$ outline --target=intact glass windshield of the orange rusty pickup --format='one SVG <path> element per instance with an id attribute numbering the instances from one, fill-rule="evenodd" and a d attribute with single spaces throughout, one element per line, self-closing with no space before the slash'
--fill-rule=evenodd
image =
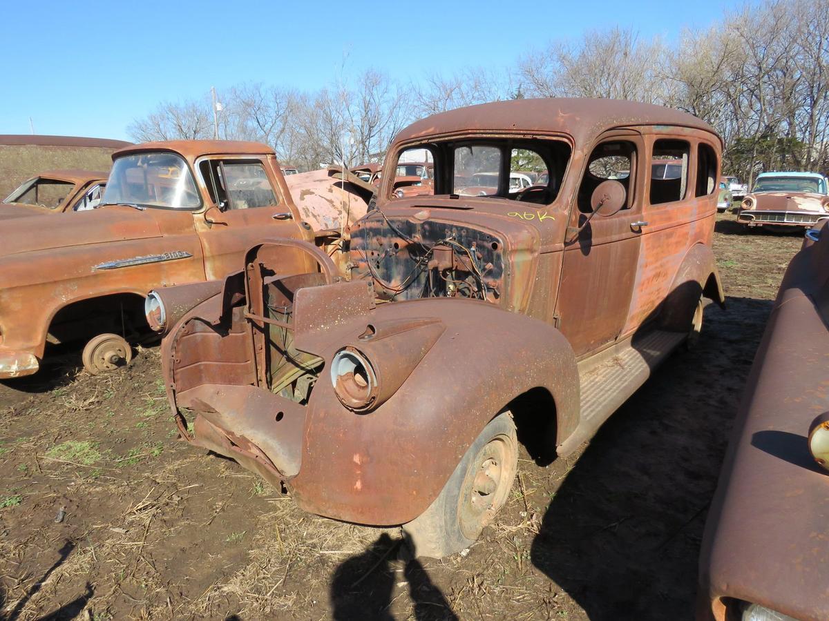
<path id="1" fill-rule="evenodd" d="M 190 169 L 175 153 L 138 153 L 114 161 L 101 205 L 197 209 Z"/>

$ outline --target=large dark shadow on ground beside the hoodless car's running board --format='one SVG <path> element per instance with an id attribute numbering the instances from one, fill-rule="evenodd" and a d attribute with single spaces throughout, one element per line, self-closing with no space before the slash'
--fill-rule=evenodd
<path id="1" fill-rule="evenodd" d="M 531 560 L 589 619 L 691 619 L 705 515 L 772 302 L 727 305 L 705 308 L 698 348 L 611 416 L 546 510 Z"/>

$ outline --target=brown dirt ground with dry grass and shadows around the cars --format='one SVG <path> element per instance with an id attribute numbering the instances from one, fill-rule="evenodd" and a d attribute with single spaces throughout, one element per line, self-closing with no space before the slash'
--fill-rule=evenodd
<path id="1" fill-rule="evenodd" d="M 754 350 L 801 236 L 719 216 L 728 309 L 568 460 L 523 455 L 466 556 L 307 515 L 176 440 L 158 348 L 93 377 L 66 352 L 0 385 L 0 619 L 691 619 Z"/>

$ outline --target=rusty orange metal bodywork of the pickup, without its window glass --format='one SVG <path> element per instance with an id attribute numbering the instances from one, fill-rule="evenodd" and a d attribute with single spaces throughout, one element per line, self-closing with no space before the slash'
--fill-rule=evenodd
<path id="1" fill-rule="evenodd" d="M 47 341 L 87 338 L 100 331 L 137 338 L 147 328 L 143 298 L 150 289 L 223 278 L 242 267 L 245 251 L 260 238 L 315 239 L 314 228 L 324 214 L 314 219 L 313 205 L 300 212 L 269 147 L 251 142 L 153 142 L 124 148 L 113 159 L 162 152 L 183 158 L 187 171 L 176 174 L 192 176 L 201 206 L 107 205 L 52 214 L 46 226 L 36 216 L 4 221 L 0 378 L 35 373 Z M 273 192 L 274 205 L 222 209 L 202 174 L 210 162 L 260 167 L 258 183 Z M 75 173 L 63 176 L 80 178 Z M 176 181 L 172 171 L 166 176 L 161 181 Z M 288 272 L 313 267 L 313 261 L 296 251 L 284 252 L 282 260 Z M 56 265 L 61 268 L 56 270 Z"/>

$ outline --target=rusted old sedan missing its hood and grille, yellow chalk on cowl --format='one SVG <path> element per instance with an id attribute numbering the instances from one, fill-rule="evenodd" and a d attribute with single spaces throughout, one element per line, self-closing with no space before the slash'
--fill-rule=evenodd
<path id="1" fill-rule="evenodd" d="M 720 138 L 689 114 L 524 99 L 402 130 L 384 170 L 430 153 L 434 195 L 350 231 L 347 279 L 264 239 L 216 296 L 157 291 L 181 435 L 284 485 L 311 513 L 402 525 L 416 554 L 462 550 L 502 507 L 516 437 L 568 455 L 722 303 L 711 252 Z M 513 157 L 521 152 L 521 157 Z M 683 162 L 653 178 L 653 159 Z M 511 161 L 545 185 L 510 190 Z M 497 189 L 458 187 L 495 171 Z M 189 306 L 189 308 L 188 308 Z M 517 426 L 517 431 L 516 431 Z"/>

